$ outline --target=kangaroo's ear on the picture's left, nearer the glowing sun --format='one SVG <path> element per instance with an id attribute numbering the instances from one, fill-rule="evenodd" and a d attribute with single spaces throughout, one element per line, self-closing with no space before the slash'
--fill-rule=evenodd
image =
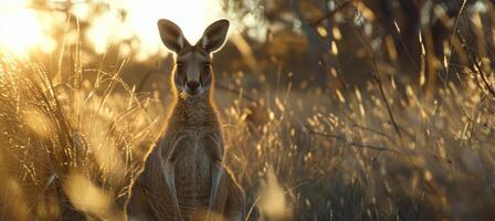
<path id="1" fill-rule="evenodd" d="M 178 53 L 186 45 L 189 45 L 180 28 L 167 19 L 158 20 L 158 31 L 160 31 L 164 44 L 172 52 Z"/>

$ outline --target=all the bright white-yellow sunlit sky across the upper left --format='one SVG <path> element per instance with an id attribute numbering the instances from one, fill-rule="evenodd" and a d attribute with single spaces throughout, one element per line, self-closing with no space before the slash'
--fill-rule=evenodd
<path id="1" fill-rule="evenodd" d="M 220 0 L 107 0 L 102 13 L 94 15 L 94 8 L 86 1 L 71 4 L 71 12 L 80 21 L 88 21 L 89 28 L 84 38 L 93 50 L 104 53 L 112 45 L 131 40 L 130 45 L 122 45 L 123 55 L 145 60 L 156 53 L 166 53 L 161 45 L 158 19 L 169 19 L 181 27 L 186 38 L 196 43 L 212 21 L 222 17 Z M 57 1 L 63 2 L 63 1 Z M 56 3 L 56 2 L 55 2 Z M 123 17 L 125 12 L 125 17 Z M 57 20 L 54 17 L 57 14 Z M 93 15 L 91 15 L 93 14 Z M 33 10 L 30 0 L 2 0 L 0 2 L 0 49 L 18 54 L 27 54 L 33 49 L 52 52 L 54 36 L 50 30 L 54 25 L 64 29 L 66 17 L 57 10 Z M 60 43 L 60 42 L 59 42 Z"/>

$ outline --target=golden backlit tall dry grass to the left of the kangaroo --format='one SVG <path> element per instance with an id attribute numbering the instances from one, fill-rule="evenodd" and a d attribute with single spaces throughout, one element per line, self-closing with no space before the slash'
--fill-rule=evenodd
<path id="1" fill-rule="evenodd" d="M 72 70 L 54 83 L 35 63 L 1 57 L 1 220 L 122 219 L 152 140 L 154 102 L 136 96 L 120 70 Z"/>

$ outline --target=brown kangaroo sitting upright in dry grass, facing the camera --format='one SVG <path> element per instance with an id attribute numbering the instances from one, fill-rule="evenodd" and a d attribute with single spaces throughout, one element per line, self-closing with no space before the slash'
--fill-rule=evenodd
<path id="1" fill-rule="evenodd" d="M 130 186 L 127 219 L 241 221 L 244 191 L 223 165 L 222 129 L 212 101 L 212 55 L 225 42 L 229 21 L 210 24 L 194 45 L 169 20 L 159 20 L 158 30 L 175 54 L 175 103 Z"/>

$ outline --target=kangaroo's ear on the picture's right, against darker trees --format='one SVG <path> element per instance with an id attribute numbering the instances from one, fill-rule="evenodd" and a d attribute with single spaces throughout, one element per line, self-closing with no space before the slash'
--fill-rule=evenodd
<path id="1" fill-rule="evenodd" d="M 225 43 L 229 24 L 230 22 L 227 19 L 213 22 L 204 30 L 203 36 L 199 40 L 198 44 L 208 53 L 219 51 L 223 46 L 223 43 Z"/>

